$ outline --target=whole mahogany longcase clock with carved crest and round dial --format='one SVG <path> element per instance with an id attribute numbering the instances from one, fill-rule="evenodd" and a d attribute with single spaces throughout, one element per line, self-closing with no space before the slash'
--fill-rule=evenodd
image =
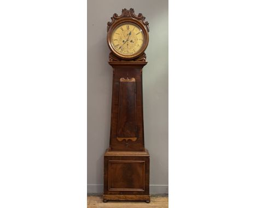
<path id="1" fill-rule="evenodd" d="M 108 22 L 113 67 L 109 148 L 104 154 L 104 194 L 108 200 L 144 200 L 149 195 L 149 153 L 144 148 L 142 68 L 149 26 L 142 14 L 123 9 Z"/>

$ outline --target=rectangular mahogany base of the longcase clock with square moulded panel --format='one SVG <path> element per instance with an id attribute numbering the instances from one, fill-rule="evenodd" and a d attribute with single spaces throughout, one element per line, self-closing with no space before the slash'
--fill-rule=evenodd
<path id="1" fill-rule="evenodd" d="M 150 201 L 148 151 L 110 151 L 104 155 L 103 201 Z"/>

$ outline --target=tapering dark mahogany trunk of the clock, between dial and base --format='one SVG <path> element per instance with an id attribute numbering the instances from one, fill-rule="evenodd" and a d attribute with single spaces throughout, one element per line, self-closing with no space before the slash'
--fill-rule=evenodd
<path id="1" fill-rule="evenodd" d="M 142 68 L 147 63 L 109 64 L 113 67 L 110 150 L 144 151 Z"/>

